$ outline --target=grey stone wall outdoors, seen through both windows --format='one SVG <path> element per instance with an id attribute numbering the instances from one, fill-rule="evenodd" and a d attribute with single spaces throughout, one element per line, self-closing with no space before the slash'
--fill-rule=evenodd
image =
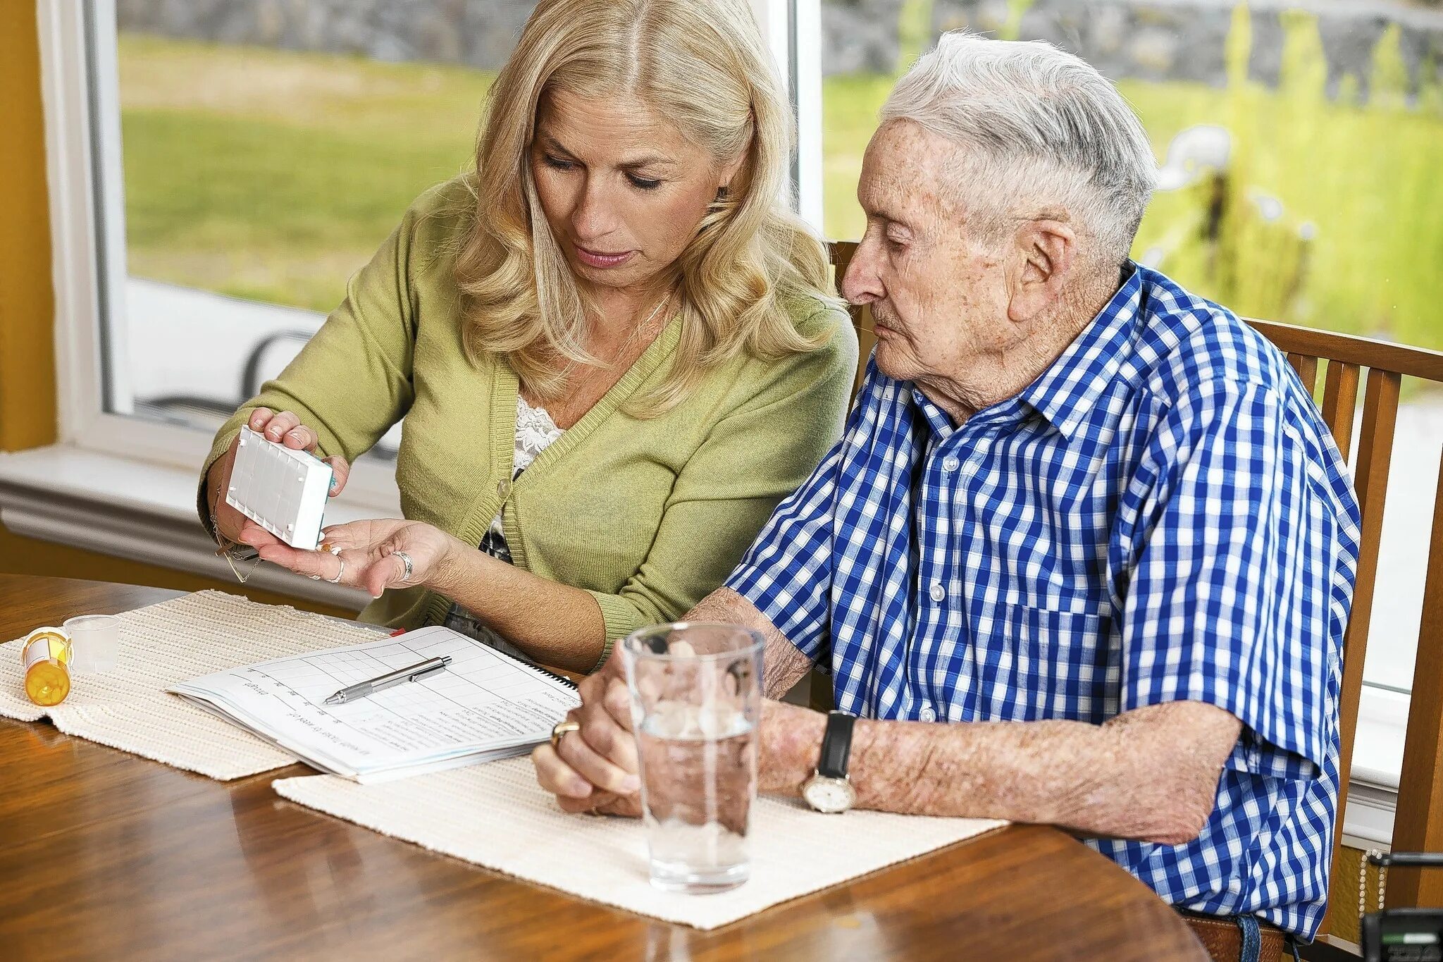
<path id="1" fill-rule="evenodd" d="M 1035 0 L 1020 20 L 1023 39 L 1045 39 L 1084 56 L 1113 78 L 1227 84 L 1224 49 L 1238 0 Z M 902 59 L 903 0 L 823 0 L 823 71 L 889 74 Z M 359 53 L 381 61 L 440 61 L 499 68 L 535 0 L 117 0 L 124 30 L 291 50 Z M 1364 97 L 1372 53 L 1390 25 L 1411 89 L 1443 74 L 1443 12 L 1392 0 L 1253 0 L 1255 79 L 1276 84 L 1283 10 L 1316 13 L 1328 59 L 1329 94 L 1343 76 Z M 934 0 L 934 33 L 968 27 L 996 35 L 1009 0 Z"/>

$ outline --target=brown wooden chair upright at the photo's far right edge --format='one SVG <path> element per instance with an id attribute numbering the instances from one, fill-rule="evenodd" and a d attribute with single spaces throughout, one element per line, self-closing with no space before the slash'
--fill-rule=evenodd
<path id="1" fill-rule="evenodd" d="M 1392 821 L 1394 851 L 1443 851 L 1443 466 L 1433 499 L 1433 541 L 1413 668 L 1408 734 Z M 1403 805 L 1403 799 L 1408 803 Z M 1388 870 L 1388 907 L 1443 906 L 1443 873 Z"/>

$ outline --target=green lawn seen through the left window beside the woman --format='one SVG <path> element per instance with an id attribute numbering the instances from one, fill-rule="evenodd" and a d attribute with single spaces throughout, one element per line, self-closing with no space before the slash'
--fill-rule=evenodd
<path id="1" fill-rule="evenodd" d="M 468 166 L 491 82 L 137 36 L 120 69 L 131 273 L 315 310 Z"/>

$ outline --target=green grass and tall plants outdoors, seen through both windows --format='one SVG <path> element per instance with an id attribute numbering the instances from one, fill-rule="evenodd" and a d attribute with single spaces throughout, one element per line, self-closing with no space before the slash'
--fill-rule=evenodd
<path id="1" fill-rule="evenodd" d="M 921 45 L 925 4 L 905 6 L 908 50 Z M 1245 36 L 1234 39 L 1234 59 L 1245 56 Z M 1403 104 L 1395 49 L 1385 39 L 1367 107 L 1323 100 L 1316 25 L 1303 14 L 1289 25 L 1278 91 L 1241 78 L 1228 89 L 1121 85 L 1159 154 L 1188 125 L 1222 124 L 1237 209 L 1250 190 L 1287 209 L 1283 226 L 1228 222 L 1232 271 L 1208 270 L 1203 251 L 1183 244 L 1167 268 L 1179 281 L 1244 313 L 1443 348 L 1443 97 Z M 140 36 L 121 37 L 120 68 L 131 273 L 316 310 L 341 300 L 417 193 L 468 166 L 491 82 L 456 66 Z M 833 237 L 861 229 L 857 172 L 892 84 L 825 82 Z M 1159 196 L 1139 250 L 1199 209 L 1196 192 Z M 1302 290 L 1286 297 L 1274 265 L 1302 222 L 1316 239 Z"/>

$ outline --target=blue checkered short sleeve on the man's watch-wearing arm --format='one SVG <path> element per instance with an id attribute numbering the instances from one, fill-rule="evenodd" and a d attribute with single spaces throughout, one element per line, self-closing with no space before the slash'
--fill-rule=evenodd
<path id="1" fill-rule="evenodd" d="M 1202 701 L 1235 715 L 1229 767 L 1316 777 L 1338 740 L 1332 623 L 1341 516 L 1276 389 L 1219 381 L 1179 402 L 1127 490 L 1121 710 Z M 1349 586 L 1351 587 L 1351 586 Z"/>

